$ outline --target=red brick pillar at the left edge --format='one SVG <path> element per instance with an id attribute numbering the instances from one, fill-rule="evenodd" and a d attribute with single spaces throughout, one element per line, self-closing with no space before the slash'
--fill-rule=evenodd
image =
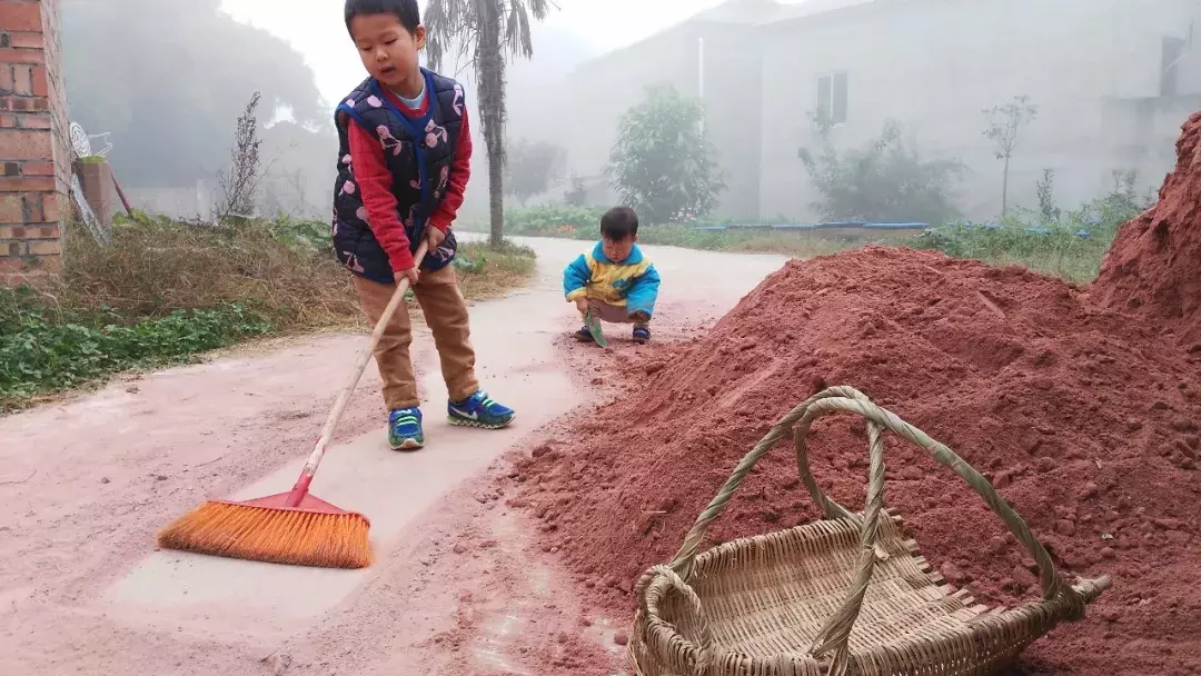
<path id="1" fill-rule="evenodd" d="M 0 283 L 62 268 L 71 137 L 59 0 L 0 0 Z"/>

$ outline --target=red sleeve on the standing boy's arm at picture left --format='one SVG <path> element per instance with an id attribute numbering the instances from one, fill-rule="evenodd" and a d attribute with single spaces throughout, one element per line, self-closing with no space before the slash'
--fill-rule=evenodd
<path id="1" fill-rule="evenodd" d="M 407 270 L 413 267 L 413 253 L 408 250 L 408 235 L 400 221 L 396 196 L 392 192 L 392 173 L 384 163 L 383 146 L 353 121 L 349 124 L 349 142 L 351 167 L 368 213 L 368 226 L 388 253 L 392 269 L 396 273 Z"/>

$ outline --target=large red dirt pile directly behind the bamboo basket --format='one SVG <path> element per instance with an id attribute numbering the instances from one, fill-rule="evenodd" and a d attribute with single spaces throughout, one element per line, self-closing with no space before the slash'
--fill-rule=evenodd
<path id="1" fill-rule="evenodd" d="M 1113 578 L 1028 668 L 1201 674 L 1201 354 L 1152 325 L 1021 268 L 873 247 L 791 262 L 703 339 L 633 359 L 614 363 L 633 383 L 621 399 L 513 473 L 512 504 L 619 616 L 754 442 L 849 384 L 985 472 L 1069 576 Z M 827 418 L 814 433 L 819 483 L 860 509 L 864 425 Z M 902 442 L 886 461 L 886 503 L 951 582 L 1005 605 L 1038 593 L 1033 561 L 957 477 Z M 710 537 L 817 518 L 783 444 Z"/>

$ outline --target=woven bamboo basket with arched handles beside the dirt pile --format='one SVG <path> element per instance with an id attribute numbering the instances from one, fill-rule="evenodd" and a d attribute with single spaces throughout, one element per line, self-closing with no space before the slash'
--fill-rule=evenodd
<path id="1" fill-rule="evenodd" d="M 852 513 L 809 469 L 813 421 L 867 419 L 867 504 Z M 949 467 L 1038 563 L 1042 596 L 1012 609 L 976 604 L 944 584 L 884 509 L 884 431 Z M 789 433 L 801 480 L 825 520 L 736 540 L 698 556 L 709 525 L 751 468 Z M 668 566 L 637 587 L 629 658 L 639 676 L 951 676 L 996 674 L 1059 622 L 1081 620 L 1110 579 L 1068 584 L 1026 522 L 979 472 L 861 393 L 831 388 L 785 415 L 742 459 Z"/>

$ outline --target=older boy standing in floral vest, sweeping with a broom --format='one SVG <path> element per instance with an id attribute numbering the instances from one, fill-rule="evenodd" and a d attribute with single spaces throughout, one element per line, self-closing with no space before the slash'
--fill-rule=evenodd
<path id="1" fill-rule="evenodd" d="M 479 388 L 467 305 L 450 267 L 456 247 L 450 225 L 471 174 L 462 86 L 418 65 L 425 26 L 417 0 L 346 0 L 346 28 L 370 77 L 335 113 L 337 258 L 354 273 L 359 303 L 372 324 L 396 282 L 412 283 L 442 361 L 450 424 L 503 427 L 514 413 Z M 422 241 L 429 253 L 418 265 L 413 256 Z M 402 310 L 375 351 L 389 411 L 388 441 L 396 450 L 425 444 L 411 342 Z"/>

